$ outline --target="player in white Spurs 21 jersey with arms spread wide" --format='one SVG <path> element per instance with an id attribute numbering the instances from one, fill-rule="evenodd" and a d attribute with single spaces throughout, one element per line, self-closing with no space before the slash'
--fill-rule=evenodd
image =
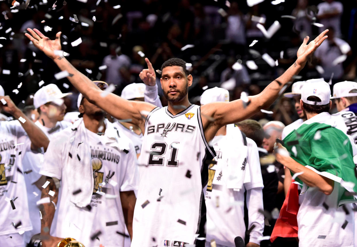
<path id="1" fill-rule="evenodd" d="M 26 37 L 52 58 L 61 70 L 73 76 L 70 82 L 95 105 L 117 119 L 131 119 L 144 133 L 140 165 L 140 183 L 135 205 L 132 247 L 205 245 L 206 221 L 204 195 L 208 179 L 208 164 L 214 150 L 208 142 L 227 124 L 243 120 L 260 109 L 270 106 L 282 87 L 305 66 L 308 57 L 327 38 L 322 32 L 307 44 L 306 37 L 297 52 L 297 60 L 262 93 L 249 96 L 248 102 L 235 100 L 215 102 L 202 107 L 188 101 L 188 87 L 192 75 L 182 59 L 172 58 L 161 67 L 161 87 L 169 106 L 159 108 L 152 104 L 129 101 L 115 94 L 101 95 L 99 88 L 77 71 L 64 57 L 60 35 L 55 40 L 39 30 L 27 29 Z M 144 73 L 152 81 L 155 71 L 145 59 L 150 72 Z"/>

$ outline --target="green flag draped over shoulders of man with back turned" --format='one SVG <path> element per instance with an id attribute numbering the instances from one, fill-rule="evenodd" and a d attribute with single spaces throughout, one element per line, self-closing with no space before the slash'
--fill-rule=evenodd
<path id="1" fill-rule="evenodd" d="M 305 123 L 283 140 L 290 156 L 318 174 L 340 183 L 345 189 L 340 189 L 339 205 L 356 202 L 353 194 L 357 192 L 357 178 L 350 139 L 329 124 L 309 120 Z M 302 184 L 298 177 L 295 180 Z"/>

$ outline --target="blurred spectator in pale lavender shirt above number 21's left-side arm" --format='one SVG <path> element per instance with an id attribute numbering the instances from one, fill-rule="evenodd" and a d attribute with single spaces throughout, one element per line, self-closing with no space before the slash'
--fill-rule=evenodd
<path id="1" fill-rule="evenodd" d="M 103 76 L 106 83 L 120 87 L 130 80 L 130 58 L 121 53 L 121 47 L 117 44 L 111 44 L 109 51 L 110 54 L 103 59 L 103 65 L 107 66 Z"/>

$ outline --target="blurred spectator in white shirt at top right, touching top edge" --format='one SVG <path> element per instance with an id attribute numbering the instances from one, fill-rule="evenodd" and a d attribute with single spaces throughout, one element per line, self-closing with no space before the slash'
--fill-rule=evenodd
<path id="1" fill-rule="evenodd" d="M 334 0 L 325 0 L 317 5 L 317 9 L 317 18 L 323 24 L 323 27 L 320 27 L 320 32 L 332 26 L 335 30 L 335 36 L 341 38 L 342 3 Z"/>

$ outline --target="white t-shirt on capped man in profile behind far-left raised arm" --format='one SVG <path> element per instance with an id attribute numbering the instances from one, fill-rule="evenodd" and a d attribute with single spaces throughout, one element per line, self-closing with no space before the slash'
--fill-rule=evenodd
<path id="1" fill-rule="evenodd" d="M 54 128 L 45 127 L 41 121 L 36 121 L 37 125 L 42 132 L 51 140 L 51 136 L 55 133 L 64 130 L 65 128 L 71 126 L 72 124 L 67 121 L 60 121 L 56 123 Z M 31 237 L 37 233 L 41 232 L 41 220 L 40 220 L 40 210 L 36 205 L 36 202 L 41 199 L 41 190 L 37 188 L 34 184 L 40 179 L 41 174 L 40 168 L 43 161 L 43 154 L 26 152 L 24 158 L 22 159 L 22 165 L 24 167 L 24 177 L 27 188 L 27 201 L 29 203 L 30 220 L 32 224 L 32 230 L 24 233 L 25 242 L 29 243 Z"/>

